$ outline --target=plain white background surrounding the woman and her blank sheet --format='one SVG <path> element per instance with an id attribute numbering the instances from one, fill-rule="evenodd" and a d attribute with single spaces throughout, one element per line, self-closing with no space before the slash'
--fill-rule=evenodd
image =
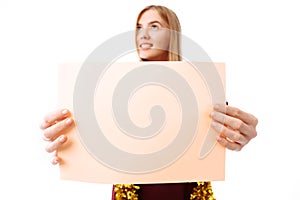
<path id="1" fill-rule="evenodd" d="M 183 33 L 227 65 L 227 99 L 259 119 L 258 137 L 227 151 L 218 200 L 299 199 L 299 4 L 296 0 L 0 1 L 0 199 L 110 199 L 111 186 L 59 179 L 39 123 L 56 109 L 56 70 L 132 30 L 148 4 L 174 10 Z"/>

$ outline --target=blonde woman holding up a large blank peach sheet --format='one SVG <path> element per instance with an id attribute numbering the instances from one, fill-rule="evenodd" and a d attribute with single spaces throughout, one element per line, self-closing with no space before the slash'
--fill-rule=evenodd
<path id="1" fill-rule="evenodd" d="M 171 30 L 171 31 L 168 31 Z M 141 61 L 180 61 L 181 27 L 176 14 L 164 6 L 148 6 L 137 18 L 136 46 Z M 67 142 L 63 135 L 74 126 L 74 119 L 68 109 L 60 109 L 47 114 L 41 124 L 43 137 L 49 141 L 47 152 L 56 150 Z M 230 150 L 241 150 L 256 137 L 257 119 L 238 108 L 215 106 L 211 114 L 212 128 L 220 133 L 217 141 Z M 225 123 L 223 124 L 223 120 Z M 59 163 L 54 155 L 52 163 Z M 112 199 L 214 199 L 210 182 L 168 183 L 168 184 L 117 184 L 113 187 Z"/>

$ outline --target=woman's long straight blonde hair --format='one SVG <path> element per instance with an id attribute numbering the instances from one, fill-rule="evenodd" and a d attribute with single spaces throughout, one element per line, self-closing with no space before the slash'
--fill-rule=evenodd
<path id="1" fill-rule="evenodd" d="M 177 15 L 172 10 L 164 6 L 147 6 L 139 13 L 136 24 L 138 24 L 144 12 L 151 9 L 156 10 L 158 12 L 160 17 L 167 24 L 167 28 L 171 30 L 168 50 L 168 61 L 181 61 L 181 26 Z"/>

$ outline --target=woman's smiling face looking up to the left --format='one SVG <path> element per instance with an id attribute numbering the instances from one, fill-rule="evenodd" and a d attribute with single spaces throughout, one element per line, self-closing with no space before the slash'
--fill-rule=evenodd
<path id="1" fill-rule="evenodd" d="M 168 61 L 170 32 L 156 10 L 145 11 L 137 23 L 139 57 L 149 61 Z"/>

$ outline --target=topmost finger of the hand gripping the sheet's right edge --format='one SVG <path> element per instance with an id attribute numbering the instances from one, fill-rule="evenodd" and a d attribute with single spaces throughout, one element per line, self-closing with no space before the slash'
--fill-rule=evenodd
<path id="1" fill-rule="evenodd" d="M 217 104 L 214 106 L 214 110 L 218 111 L 218 112 L 222 112 L 222 113 L 232 116 L 234 118 L 240 119 L 249 125 L 256 126 L 258 123 L 257 118 L 254 117 L 252 114 L 244 112 L 236 107 L 224 106 L 221 104 Z"/>

